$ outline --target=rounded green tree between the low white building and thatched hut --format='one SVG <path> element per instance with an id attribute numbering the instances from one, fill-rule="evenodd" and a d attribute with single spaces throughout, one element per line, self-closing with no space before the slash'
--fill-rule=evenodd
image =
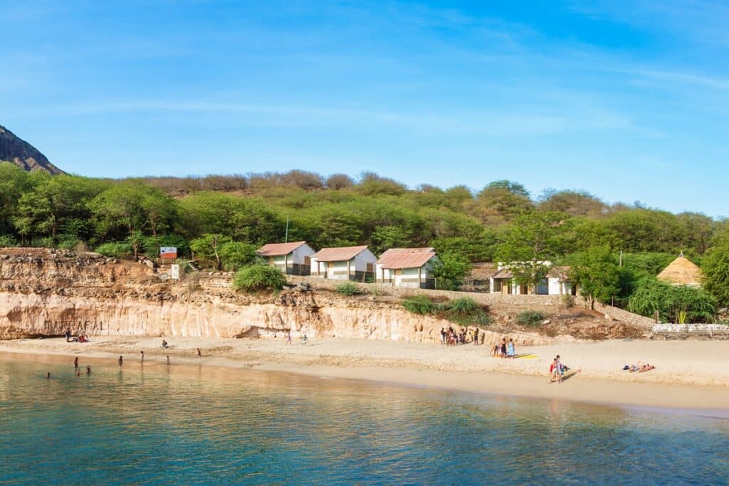
<path id="1" fill-rule="evenodd" d="M 620 268 L 609 246 L 592 246 L 570 255 L 567 262 L 569 281 L 580 286 L 591 308 L 596 300 L 609 302 L 620 292 Z"/>

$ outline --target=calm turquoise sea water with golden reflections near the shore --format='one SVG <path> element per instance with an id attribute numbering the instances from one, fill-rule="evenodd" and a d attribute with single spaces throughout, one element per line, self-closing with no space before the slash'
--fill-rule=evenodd
<path id="1" fill-rule="evenodd" d="M 728 420 L 66 361 L 0 358 L 0 484 L 729 484 Z"/>

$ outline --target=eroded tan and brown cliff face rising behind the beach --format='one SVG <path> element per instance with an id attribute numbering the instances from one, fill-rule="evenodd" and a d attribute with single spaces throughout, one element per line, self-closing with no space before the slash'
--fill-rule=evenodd
<path id="1" fill-rule="evenodd" d="M 0 339 L 62 335 L 66 329 L 91 336 L 193 337 L 273 336 L 291 329 L 294 337 L 438 341 L 441 327 L 452 325 L 408 313 L 397 296 L 343 297 L 328 289 L 251 296 L 230 289 L 227 274 L 198 273 L 182 281 L 165 275 L 96 254 L 0 249 Z M 615 337 L 609 329 L 620 326 L 601 329 Z M 487 342 L 502 337 L 483 334 Z M 510 337 L 517 344 L 551 340 L 527 332 L 510 331 Z"/>

